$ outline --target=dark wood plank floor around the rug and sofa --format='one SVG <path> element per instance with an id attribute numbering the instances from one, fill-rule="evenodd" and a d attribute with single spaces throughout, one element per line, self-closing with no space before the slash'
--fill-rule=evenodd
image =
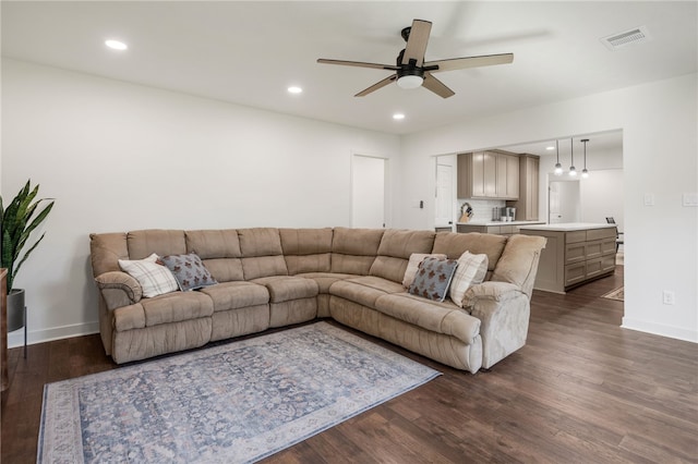
<path id="1" fill-rule="evenodd" d="M 698 462 L 698 345 L 621 329 L 601 298 L 623 267 L 566 295 L 534 292 L 527 345 L 470 375 L 444 375 L 266 463 Z M 11 350 L 2 463 L 36 462 L 46 382 L 112 369 L 97 335 Z"/>

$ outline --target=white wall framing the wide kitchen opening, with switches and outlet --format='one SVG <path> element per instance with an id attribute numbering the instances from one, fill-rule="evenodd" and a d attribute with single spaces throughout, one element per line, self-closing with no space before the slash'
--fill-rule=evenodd
<path id="1" fill-rule="evenodd" d="M 494 117 L 464 120 L 402 138 L 402 185 L 433 191 L 430 155 L 623 130 L 625 317 L 623 326 L 698 341 L 698 208 L 682 194 L 698 192 L 696 74 L 595 94 Z M 423 191 L 423 193 L 422 193 Z M 652 193 L 655 206 L 643 206 Z M 429 228 L 433 213 L 402 206 L 396 222 Z M 662 304 L 662 290 L 676 305 Z"/>

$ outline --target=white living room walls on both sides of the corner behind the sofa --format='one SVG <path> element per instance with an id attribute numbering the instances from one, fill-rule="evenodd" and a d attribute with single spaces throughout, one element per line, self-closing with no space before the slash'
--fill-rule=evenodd
<path id="1" fill-rule="evenodd" d="M 398 138 L 3 59 L 2 195 L 32 178 L 57 198 L 46 240 L 16 280 L 28 291 L 29 339 L 97 330 L 91 232 L 349 225 L 352 152 L 390 158 L 388 225 L 431 229 L 432 156 L 623 130 L 623 323 L 698 341 L 698 208 L 681 206 L 698 191 L 696 81 Z M 425 208 L 412 208 L 420 199 Z M 675 306 L 662 305 L 664 289 Z M 11 345 L 20 342 L 12 333 Z"/>

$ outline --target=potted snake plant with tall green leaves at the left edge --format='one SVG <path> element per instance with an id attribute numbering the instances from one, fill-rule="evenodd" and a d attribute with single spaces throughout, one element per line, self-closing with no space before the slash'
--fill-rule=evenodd
<path id="1" fill-rule="evenodd" d="M 53 208 L 52 198 L 38 198 L 39 186 L 32 188 L 32 180 L 17 193 L 5 207 L 0 196 L 0 236 L 2 251 L 0 267 L 8 269 L 8 331 L 24 327 L 24 289 L 14 289 L 14 278 L 29 257 L 29 254 L 44 240 L 44 234 L 29 245 L 29 235 L 46 219 Z M 22 251 L 27 247 L 26 252 Z"/>

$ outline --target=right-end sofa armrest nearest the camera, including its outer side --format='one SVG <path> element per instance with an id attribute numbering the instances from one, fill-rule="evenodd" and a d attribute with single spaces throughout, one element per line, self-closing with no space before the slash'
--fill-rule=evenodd
<path id="1" fill-rule="evenodd" d="M 464 308 L 480 319 L 482 366 L 490 368 L 526 344 L 531 313 L 524 290 L 508 282 L 483 282 L 466 292 Z"/>

